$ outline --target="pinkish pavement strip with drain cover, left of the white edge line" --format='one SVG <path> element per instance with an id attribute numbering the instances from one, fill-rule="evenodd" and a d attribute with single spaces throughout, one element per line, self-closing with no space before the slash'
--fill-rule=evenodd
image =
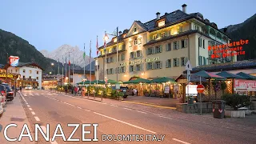
<path id="1" fill-rule="evenodd" d="M 3 114 L 2 118 L 0 119 L 0 124 L 2 125 L 2 130 L 0 132 L 0 143 L 6 144 L 6 143 L 34 143 L 30 142 L 28 137 L 23 137 L 21 142 L 8 142 L 6 138 L 4 137 L 4 129 L 9 124 L 17 124 L 17 127 L 11 126 L 7 130 L 7 135 L 9 138 L 17 138 L 19 137 L 22 127 L 24 124 L 27 124 L 30 129 L 30 134 L 32 135 L 32 138 L 34 138 L 34 134 L 32 133 L 33 130 L 31 130 L 30 122 L 28 121 L 28 118 L 26 118 L 25 110 L 22 107 L 21 99 L 19 94 L 14 98 L 12 102 L 7 102 L 6 106 L 4 106 L 6 109 L 5 113 Z M 25 132 L 26 133 L 26 132 Z"/>

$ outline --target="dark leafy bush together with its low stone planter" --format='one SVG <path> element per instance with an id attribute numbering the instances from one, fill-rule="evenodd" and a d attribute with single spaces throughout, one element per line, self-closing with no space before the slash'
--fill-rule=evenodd
<path id="1" fill-rule="evenodd" d="M 245 118 L 245 110 L 238 110 L 240 107 L 250 106 L 250 97 L 239 94 L 224 94 L 222 99 L 226 101 L 227 106 L 233 110 L 226 110 L 225 115 L 233 118 Z"/>

